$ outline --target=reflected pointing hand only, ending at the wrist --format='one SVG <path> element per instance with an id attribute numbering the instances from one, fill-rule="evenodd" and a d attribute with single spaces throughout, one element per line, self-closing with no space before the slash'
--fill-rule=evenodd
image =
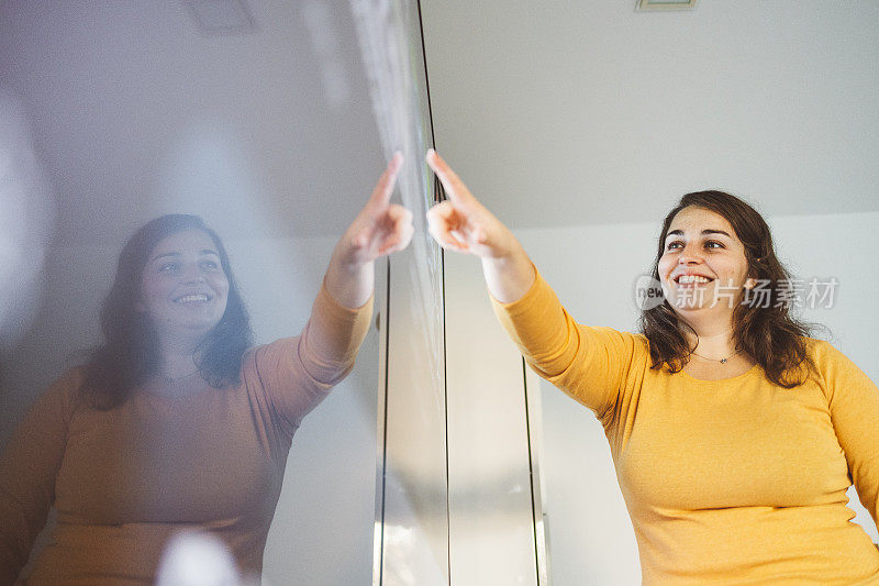
<path id="1" fill-rule="evenodd" d="M 402 164 L 403 155 L 394 153 L 369 201 L 342 236 L 338 252 L 344 263 L 370 263 L 392 252 L 402 251 L 412 240 L 412 212 L 390 202 Z"/>

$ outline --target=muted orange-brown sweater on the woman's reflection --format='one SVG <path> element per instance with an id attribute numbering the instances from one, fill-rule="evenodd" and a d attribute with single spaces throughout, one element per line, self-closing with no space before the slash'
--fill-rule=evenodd
<path id="1" fill-rule="evenodd" d="M 109 411 L 84 403 L 69 371 L 0 456 L 0 585 L 51 506 L 58 522 L 29 585 L 153 584 L 169 538 L 192 530 L 258 577 L 293 433 L 351 372 L 371 314 L 371 299 L 353 310 L 321 289 L 301 335 L 245 354 L 240 385 L 138 388 Z"/>

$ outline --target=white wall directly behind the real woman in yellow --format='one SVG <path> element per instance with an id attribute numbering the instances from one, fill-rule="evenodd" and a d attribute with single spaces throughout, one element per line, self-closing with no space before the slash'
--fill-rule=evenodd
<path id="1" fill-rule="evenodd" d="M 758 203 L 758 202 L 757 202 Z M 874 351 L 879 316 L 875 251 L 879 213 L 769 218 L 780 257 L 797 278 L 836 277 L 831 309 L 804 313 L 834 345 L 879 382 Z M 538 269 L 581 323 L 633 331 L 634 284 L 649 269 L 659 223 L 520 230 Z M 560 586 L 636 584 L 637 545 L 601 424 L 588 409 L 543 383 L 543 462 L 550 575 Z M 849 490 L 850 507 L 875 542 L 877 528 Z"/>

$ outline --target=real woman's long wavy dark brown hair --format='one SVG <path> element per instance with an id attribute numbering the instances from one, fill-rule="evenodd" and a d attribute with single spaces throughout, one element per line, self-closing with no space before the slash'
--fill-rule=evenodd
<path id="1" fill-rule="evenodd" d="M 806 336 L 812 327 L 790 313 L 790 273 L 781 265 L 772 245 L 772 235 L 763 217 L 746 202 L 723 191 L 696 191 L 687 194 L 668 212 L 659 233 L 653 278 L 659 280 L 659 258 L 665 253 L 665 241 L 675 217 L 685 208 L 701 208 L 726 219 L 738 240 L 745 245 L 748 276 L 767 285 L 758 303 L 739 303 L 733 310 L 733 339 L 736 349 L 748 353 L 766 372 L 767 378 L 785 388 L 805 382 L 812 361 L 809 357 Z M 694 347 L 690 347 L 686 323 L 668 300 L 645 309 L 641 314 L 641 331 L 649 340 L 652 368 L 668 366 L 677 373 L 689 362 Z"/>

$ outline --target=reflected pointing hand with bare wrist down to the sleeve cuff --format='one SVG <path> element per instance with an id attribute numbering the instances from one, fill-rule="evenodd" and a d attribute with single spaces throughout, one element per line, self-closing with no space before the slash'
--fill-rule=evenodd
<path id="1" fill-rule="evenodd" d="M 369 201 L 340 239 L 326 270 L 326 288 L 340 303 L 359 307 L 372 295 L 374 261 L 402 251 L 412 240 L 412 212 L 391 203 L 403 155 L 394 153 Z"/>

